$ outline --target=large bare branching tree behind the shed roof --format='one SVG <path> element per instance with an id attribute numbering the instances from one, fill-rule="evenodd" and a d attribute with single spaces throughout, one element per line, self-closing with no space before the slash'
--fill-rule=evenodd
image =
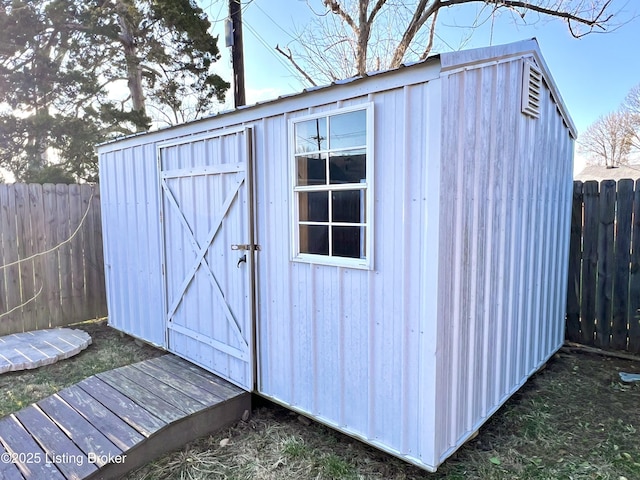
<path id="1" fill-rule="evenodd" d="M 397 68 L 423 59 L 434 45 L 438 13 L 463 4 L 478 4 L 473 25 L 501 12 L 520 24 L 540 17 L 566 22 L 574 37 L 607 31 L 614 17 L 613 0 L 322 0 L 324 10 L 298 32 L 290 50 L 280 49 L 297 68 L 317 81 L 334 81 L 368 71 Z M 283 53 L 286 52 L 286 53 Z"/>

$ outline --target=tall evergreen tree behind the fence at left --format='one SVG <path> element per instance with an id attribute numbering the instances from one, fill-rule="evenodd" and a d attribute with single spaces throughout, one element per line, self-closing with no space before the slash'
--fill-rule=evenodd
<path id="1" fill-rule="evenodd" d="M 0 166 L 95 180 L 94 146 L 208 114 L 229 84 L 190 0 L 0 0 Z M 49 169 L 59 177 L 60 169 Z M 53 174 L 52 174 L 53 175 Z"/>

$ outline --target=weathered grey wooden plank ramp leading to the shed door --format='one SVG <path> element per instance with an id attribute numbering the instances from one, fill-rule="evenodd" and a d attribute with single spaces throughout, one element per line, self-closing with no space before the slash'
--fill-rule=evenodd
<path id="1" fill-rule="evenodd" d="M 250 408 L 250 393 L 178 357 L 145 360 L 0 419 L 0 479 L 120 478 Z"/>

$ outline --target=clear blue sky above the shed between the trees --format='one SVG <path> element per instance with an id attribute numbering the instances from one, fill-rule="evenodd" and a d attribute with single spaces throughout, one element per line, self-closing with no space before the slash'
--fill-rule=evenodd
<path id="1" fill-rule="evenodd" d="M 321 0 L 309 0 L 322 11 Z M 228 0 L 199 0 L 219 34 L 222 58 L 217 70 L 231 79 L 231 52 L 225 47 L 224 20 Z M 247 104 L 300 92 L 308 85 L 293 74 L 275 46 L 286 46 L 309 21 L 312 13 L 304 0 L 242 0 L 245 86 Z M 584 132 L 598 117 L 619 108 L 629 90 L 640 84 L 640 2 L 613 0 L 619 9 L 616 28 L 576 39 L 566 23 L 529 17 L 531 25 L 516 25 L 509 14 L 471 31 L 464 28 L 476 17 L 478 4 L 455 6 L 443 11 L 436 29 L 433 53 L 485 47 L 537 38 L 542 55 L 578 132 Z M 493 23 L 493 24 L 492 24 Z M 225 109 L 232 108 L 231 93 Z M 575 171 L 585 159 L 576 151 Z"/>

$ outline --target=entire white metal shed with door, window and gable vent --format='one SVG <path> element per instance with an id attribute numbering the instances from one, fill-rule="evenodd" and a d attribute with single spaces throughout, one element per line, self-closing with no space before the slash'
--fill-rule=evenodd
<path id="1" fill-rule="evenodd" d="M 563 342 L 535 40 L 101 145 L 110 324 L 434 471 Z"/>

